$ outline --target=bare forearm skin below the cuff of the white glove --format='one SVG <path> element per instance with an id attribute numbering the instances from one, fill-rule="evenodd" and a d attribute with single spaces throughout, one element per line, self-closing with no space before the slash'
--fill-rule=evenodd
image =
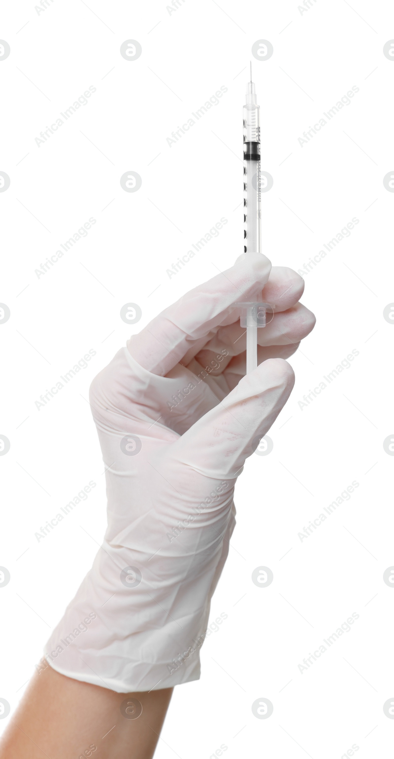
<path id="1" fill-rule="evenodd" d="M 0 759 L 152 759 L 172 691 L 115 693 L 48 666 L 35 673 L 11 717 Z M 136 701 L 142 713 L 132 719 Z"/>

